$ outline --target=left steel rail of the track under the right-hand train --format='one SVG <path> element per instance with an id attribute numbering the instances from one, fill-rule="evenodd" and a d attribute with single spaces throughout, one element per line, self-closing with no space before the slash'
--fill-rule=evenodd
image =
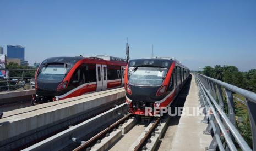
<path id="1" fill-rule="evenodd" d="M 104 137 L 104 135 L 106 135 L 107 133 L 110 133 L 113 129 L 115 129 L 115 127 L 124 123 L 124 121 L 127 120 L 131 115 L 132 115 L 131 113 L 125 115 L 123 118 L 119 119 L 114 124 L 107 127 L 107 129 L 101 131 L 94 137 L 90 138 L 90 140 L 86 141 L 85 143 L 81 144 L 79 147 L 75 148 L 74 151 L 85 150 L 86 148 L 92 146 L 92 144 L 94 144 L 97 140 L 100 140 L 102 137 Z"/>

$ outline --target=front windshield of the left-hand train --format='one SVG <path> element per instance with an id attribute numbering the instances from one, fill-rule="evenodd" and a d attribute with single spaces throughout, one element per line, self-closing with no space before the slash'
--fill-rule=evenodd
<path id="1" fill-rule="evenodd" d="M 63 80 L 69 69 L 70 65 L 67 64 L 48 64 L 40 69 L 37 78 L 40 80 Z"/>

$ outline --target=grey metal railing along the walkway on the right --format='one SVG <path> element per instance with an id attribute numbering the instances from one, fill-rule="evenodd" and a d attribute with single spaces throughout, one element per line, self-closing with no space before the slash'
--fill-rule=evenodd
<path id="1" fill-rule="evenodd" d="M 213 136 L 208 149 L 237 150 L 235 146 L 237 143 L 242 150 L 252 150 L 236 127 L 233 94 L 238 94 L 245 98 L 243 103 L 246 103 L 248 110 L 253 150 L 256 150 L 256 94 L 221 82 L 220 80 L 206 77 L 205 75 L 198 73 L 194 73 L 194 75 L 197 85 L 200 88 L 200 104 L 204 108 L 203 113 L 205 117 L 203 123 L 208 123 L 208 127 L 204 133 Z M 225 94 L 225 97 L 223 94 Z M 227 101 L 227 114 L 224 112 L 224 98 Z M 222 136 L 225 141 L 221 141 Z"/>

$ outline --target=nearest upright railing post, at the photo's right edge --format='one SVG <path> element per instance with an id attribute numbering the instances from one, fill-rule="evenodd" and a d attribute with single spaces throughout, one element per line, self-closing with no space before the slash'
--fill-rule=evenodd
<path id="1" fill-rule="evenodd" d="M 246 106 L 248 108 L 250 118 L 250 129 L 252 131 L 253 150 L 256 150 L 256 104 L 246 98 Z"/>

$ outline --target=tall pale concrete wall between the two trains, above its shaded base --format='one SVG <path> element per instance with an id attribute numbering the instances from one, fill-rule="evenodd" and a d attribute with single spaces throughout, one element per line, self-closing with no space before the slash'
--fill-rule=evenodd
<path id="1" fill-rule="evenodd" d="M 0 146 L 9 139 L 13 141 L 18 135 L 24 137 L 24 133 L 48 124 L 57 124 L 58 121 L 63 122 L 69 117 L 102 107 L 124 96 L 124 89 L 118 88 L 6 112 L 0 119 Z"/>

